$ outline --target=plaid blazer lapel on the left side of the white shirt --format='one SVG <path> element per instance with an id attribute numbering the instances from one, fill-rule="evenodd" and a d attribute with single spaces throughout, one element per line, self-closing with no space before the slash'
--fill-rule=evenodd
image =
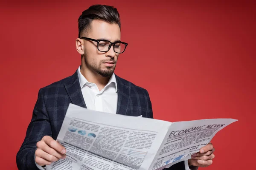
<path id="1" fill-rule="evenodd" d="M 70 81 L 67 84 L 64 84 L 64 86 L 66 88 L 68 96 L 70 97 L 71 102 L 74 105 L 86 108 L 84 97 L 79 84 L 77 71 L 75 74 L 70 76 Z"/>

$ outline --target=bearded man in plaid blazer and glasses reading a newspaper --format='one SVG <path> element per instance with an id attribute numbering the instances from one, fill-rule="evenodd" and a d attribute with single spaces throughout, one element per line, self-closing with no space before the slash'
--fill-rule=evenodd
<path id="1" fill-rule="evenodd" d="M 17 153 L 19 170 L 43 169 L 66 150 L 56 142 L 69 103 L 113 114 L 153 118 L 148 92 L 114 74 L 119 54 L 128 45 L 121 42 L 119 13 L 111 6 L 95 5 L 79 17 L 76 50 L 81 66 L 70 77 L 41 88 L 26 132 Z M 189 170 L 212 164 L 212 144 L 201 148 L 189 161 L 169 170 Z"/>

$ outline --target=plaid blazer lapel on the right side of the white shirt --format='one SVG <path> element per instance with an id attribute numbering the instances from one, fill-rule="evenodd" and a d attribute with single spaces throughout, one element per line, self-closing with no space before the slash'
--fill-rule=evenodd
<path id="1" fill-rule="evenodd" d="M 116 75 L 115 75 L 116 76 Z M 131 98 L 131 86 L 126 84 L 122 78 L 116 76 L 117 83 L 117 109 L 116 114 L 129 115 L 127 113 Z"/>

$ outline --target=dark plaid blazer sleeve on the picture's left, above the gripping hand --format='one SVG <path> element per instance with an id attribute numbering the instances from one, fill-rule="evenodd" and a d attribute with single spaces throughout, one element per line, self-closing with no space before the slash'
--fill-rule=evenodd
<path id="1" fill-rule="evenodd" d="M 35 164 L 36 144 L 44 136 L 52 136 L 52 131 L 44 102 L 43 89 L 40 89 L 26 137 L 16 156 L 19 170 L 38 170 Z"/>

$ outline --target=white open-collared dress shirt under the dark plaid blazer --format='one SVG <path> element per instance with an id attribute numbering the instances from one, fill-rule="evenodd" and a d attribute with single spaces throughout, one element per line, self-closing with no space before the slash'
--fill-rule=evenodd
<path id="1" fill-rule="evenodd" d="M 79 66 L 77 73 L 87 109 L 116 114 L 118 95 L 115 74 L 110 77 L 108 84 L 99 91 L 96 84 L 88 82 L 88 80 L 81 74 L 80 68 L 81 67 Z M 45 170 L 37 163 L 36 165 L 39 169 Z M 185 169 L 190 170 L 188 161 L 185 161 Z"/>

